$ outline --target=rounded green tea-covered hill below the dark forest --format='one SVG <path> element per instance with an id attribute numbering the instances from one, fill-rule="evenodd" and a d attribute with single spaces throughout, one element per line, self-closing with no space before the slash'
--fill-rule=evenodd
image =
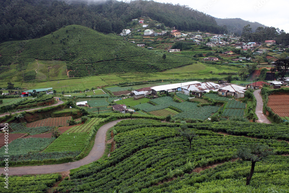
<path id="1" fill-rule="evenodd" d="M 39 39 L 4 42 L 0 44 L 0 50 L 0 78 L 18 76 L 25 80 L 67 77 L 65 63 L 61 61 L 66 62 L 70 77 L 157 72 L 192 63 L 192 59 L 178 55 L 167 55 L 164 60 L 161 53 L 80 25 L 66 26 Z M 38 62 L 39 74 L 34 72 L 38 68 L 35 60 L 42 60 Z"/>

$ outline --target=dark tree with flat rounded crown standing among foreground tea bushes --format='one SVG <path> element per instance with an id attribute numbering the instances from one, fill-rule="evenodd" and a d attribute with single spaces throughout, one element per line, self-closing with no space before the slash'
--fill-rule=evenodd
<path id="1" fill-rule="evenodd" d="M 255 163 L 261 161 L 264 157 L 272 155 L 274 152 L 268 145 L 263 144 L 247 144 L 238 150 L 238 157 L 244 161 L 251 161 L 251 171 L 247 177 L 246 185 L 250 184 L 250 180 L 254 173 Z"/>

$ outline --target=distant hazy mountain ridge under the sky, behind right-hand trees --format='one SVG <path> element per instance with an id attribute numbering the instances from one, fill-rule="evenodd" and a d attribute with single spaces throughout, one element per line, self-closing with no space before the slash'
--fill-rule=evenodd
<path id="1" fill-rule="evenodd" d="M 258 23 L 258 22 L 250 22 L 250 21 L 245 21 L 241 18 L 215 18 L 216 22 L 218 23 L 219 26 L 226 26 L 228 29 L 229 33 L 235 33 L 236 36 L 242 35 L 243 27 L 246 25 L 250 25 L 252 28 L 252 31 L 255 32 L 255 30 L 258 27 L 263 27 L 265 28 L 266 26 Z"/>

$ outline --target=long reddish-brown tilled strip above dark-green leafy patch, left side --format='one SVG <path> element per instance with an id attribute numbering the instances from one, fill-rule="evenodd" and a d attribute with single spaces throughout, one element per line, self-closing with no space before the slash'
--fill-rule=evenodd
<path id="1" fill-rule="evenodd" d="M 41 119 L 32 123 L 28 123 L 26 126 L 27 127 L 41 127 L 41 126 L 57 127 L 59 125 L 68 126 L 68 123 L 66 123 L 67 120 L 71 120 L 71 116 Z M 78 120 L 80 120 L 80 118 L 75 119 L 75 121 Z"/>

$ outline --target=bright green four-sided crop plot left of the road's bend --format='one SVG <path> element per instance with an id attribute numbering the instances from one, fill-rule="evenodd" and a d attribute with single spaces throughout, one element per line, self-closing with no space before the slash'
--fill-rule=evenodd
<path id="1" fill-rule="evenodd" d="M 87 137 L 88 134 L 86 132 L 63 133 L 43 152 L 82 151 Z"/>

